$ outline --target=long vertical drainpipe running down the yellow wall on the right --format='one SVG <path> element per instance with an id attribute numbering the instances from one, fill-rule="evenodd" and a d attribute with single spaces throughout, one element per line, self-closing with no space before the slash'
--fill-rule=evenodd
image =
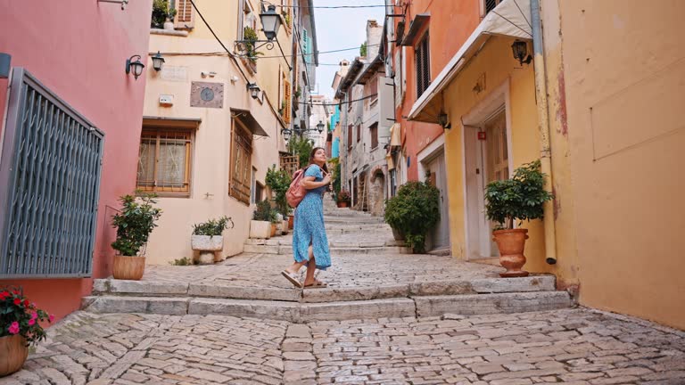
<path id="1" fill-rule="evenodd" d="M 540 0 L 531 0 L 532 52 L 535 69 L 535 96 L 538 100 L 538 129 L 540 130 L 540 161 L 545 178 L 545 190 L 552 191 L 552 151 L 549 146 L 549 112 L 547 103 L 547 74 L 544 49 L 542 47 L 542 23 L 540 20 Z M 557 263 L 557 236 L 555 231 L 554 201 L 544 204 L 543 221 L 545 226 L 545 261 L 549 265 Z"/>

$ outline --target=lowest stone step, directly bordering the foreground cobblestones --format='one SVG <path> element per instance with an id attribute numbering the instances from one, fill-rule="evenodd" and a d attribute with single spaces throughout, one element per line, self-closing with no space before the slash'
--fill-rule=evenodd
<path id="1" fill-rule="evenodd" d="M 565 291 L 297 303 L 270 300 L 95 296 L 83 299 L 92 313 L 231 315 L 292 323 L 407 316 L 490 315 L 572 307 Z"/>

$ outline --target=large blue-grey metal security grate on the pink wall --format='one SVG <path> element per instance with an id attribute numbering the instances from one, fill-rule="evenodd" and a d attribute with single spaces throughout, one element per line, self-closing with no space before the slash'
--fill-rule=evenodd
<path id="1" fill-rule="evenodd" d="M 0 278 L 91 274 L 104 135 L 12 72 L 0 158 Z"/>

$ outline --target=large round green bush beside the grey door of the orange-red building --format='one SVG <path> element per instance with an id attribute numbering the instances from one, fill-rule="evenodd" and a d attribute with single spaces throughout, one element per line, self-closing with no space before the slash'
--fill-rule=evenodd
<path id="1" fill-rule="evenodd" d="M 425 235 L 440 220 L 440 192 L 431 184 L 408 182 L 385 201 L 385 222 L 404 236 L 415 253 L 425 252 Z"/>

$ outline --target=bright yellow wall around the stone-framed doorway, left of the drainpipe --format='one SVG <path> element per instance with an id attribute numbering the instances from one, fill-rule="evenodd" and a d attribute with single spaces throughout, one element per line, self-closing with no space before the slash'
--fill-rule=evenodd
<path id="1" fill-rule="evenodd" d="M 458 77 L 445 91 L 445 105 L 452 128 L 445 131 L 446 162 L 448 165 L 448 190 L 450 191 L 450 239 L 452 255 L 466 258 L 466 210 L 464 186 L 464 151 L 461 117 L 472 111 L 488 98 L 499 86 L 508 84 L 509 110 L 511 114 L 512 153 L 509 155 L 518 167 L 540 156 L 539 134 L 535 108 L 535 88 L 532 66 L 519 67 L 511 54 L 512 39 L 491 37 L 478 53 L 466 64 Z M 485 74 L 486 88 L 475 94 L 473 88 L 478 78 Z M 532 272 L 545 271 L 544 235 L 541 221 L 524 224 L 529 228 L 530 240 L 526 242 L 525 255 L 528 263 L 524 268 Z"/>

